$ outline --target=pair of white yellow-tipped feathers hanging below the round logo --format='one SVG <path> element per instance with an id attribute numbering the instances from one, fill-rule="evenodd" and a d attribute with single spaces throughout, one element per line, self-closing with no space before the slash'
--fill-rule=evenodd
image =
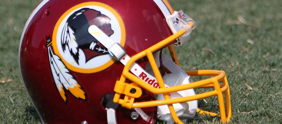
<path id="1" fill-rule="evenodd" d="M 67 91 L 70 91 L 70 93 L 73 96 L 77 98 L 85 99 L 86 97 L 84 91 L 81 89 L 77 81 L 73 78 L 69 69 L 61 61 L 60 57 L 58 57 L 53 53 L 50 46 L 48 46 L 48 55 L 49 55 L 49 62 L 51 66 L 52 75 L 56 83 L 57 89 L 63 100 L 65 102 L 67 100 L 66 94 L 64 92 L 64 88 Z"/>

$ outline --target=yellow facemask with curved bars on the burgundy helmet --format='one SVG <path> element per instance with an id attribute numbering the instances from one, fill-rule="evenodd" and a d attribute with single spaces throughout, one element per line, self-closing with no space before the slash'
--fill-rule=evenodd
<path id="1" fill-rule="evenodd" d="M 162 76 L 158 70 L 157 64 L 155 63 L 154 57 L 152 52 L 158 50 L 162 46 L 165 46 L 171 41 L 175 40 L 177 37 L 181 36 L 184 34 L 186 31 L 185 30 L 180 30 L 173 34 L 172 36 L 164 39 L 163 41 L 157 43 L 156 45 L 140 52 L 139 54 L 133 56 L 125 65 L 124 70 L 122 72 L 121 78 L 119 81 L 116 82 L 115 85 L 115 96 L 113 98 L 113 101 L 115 103 L 121 104 L 123 107 L 126 107 L 128 109 L 131 108 L 144 108 L 144 107 L 152 107 L 152 106 L 159 106 L 159 105 L 168 105 L 171 115 L 174 119 L 174 121 L 178 124 L 181 124 L 182 122 L 178 119 L 176 116 L 176 112 L 173 107 L 173 103 L 181 103 L 181 102 L 186 102 L 186 101 L 191 101 L 191 100 L 196 100 L 196 99 L 203 99 L 207 97 L 211 97 L 214 95 L 217 95 L 218 101 L 219 101 L 219 108 L 220 108 L 220 117 L 221 121 L 223 123 L 226 123 L 230 120 L 231 118 L 231 103 L 230 103 L 230 92 L 228 89 L 228 82 L 225 76 L 224 71 L 217 71 L 217 70 L 198 70 L 198 71 L 186 71 L 188 75 L 192 76 L 214 76 L 212 78 L 186 84 L 186 85 L 181 85 L 181 86 L 174 86 L 174 87 L 169 87 L 166 88 L 162 79 Z M 138 78 L 136 75 L 130 72 L 131 65 L 136 62 L 137 60 L 141 59 L 142 57 L 147 56 L 151 67 L 153 69 L 153 72 L 156 76 L 157 82 L 160 86 L 159 89 L 152 87 L 151 85 L 145 83 L 143 80 Z M 129 79 L 133 83 L 126 83 L 125 80 Z M 222 86 L 218 83 L 219 81 L 222 81 Z M 182 90 L 187 90 L 187 89 L 193 89 L 193 88 L 203 88 L 203 87 L 213 87 L 215 90 L 210 91 L 207 93 L 201 93 L 201 94 L 196 94 L 193 96 L 187 96 L 187 97 L 180 97 L 180 98 L 175 98 L 175 99 L 170 99 L 170 96 L 168 93 L 173 93 L 177 91 L 182 91 Z M 154 94 L 163 94 L 165 97 L 165 100 L 157 100 L 157 101 L 145 101 L 145 102 L 138 102 L 134 103 L 134 99 L 137 97 L 140 97 L 141 95 L 141 90 L 137 90 L 135 92 L 132 89 L 140 89 L 140 87 L 146 89 L 147 91 L 154 93 Z M 225 112 L 225 107 L 224 107 L 224 100 L 223 100 L 223 94 L 225 94 L 225 106 L 226 106 L 226 112 Z M 125 94 L 124 98 L 121 98 L 121 94 Z M 138 94 L 138 95 L 135 95 Z M 199 111 L 202 112 L 202 111 Z M 210 114 L 213 115 L 210 112 L 205 112 L 203 111 L 203 114 Z M 226 117 L 227 114 L 227 117 Z"/>

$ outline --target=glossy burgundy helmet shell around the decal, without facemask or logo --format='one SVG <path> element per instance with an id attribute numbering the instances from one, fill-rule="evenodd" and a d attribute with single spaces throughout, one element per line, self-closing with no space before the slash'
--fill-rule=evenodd
<path id="1" fill-rule="evenodd" d="M 55 36 L 61 32 L 56 33 L 55 29 L 56 25 L 61 23 L 60 18 L 73 6 L 87 2 L 89 3 L 89 0 L 42 0 L 31 14 L 22 33 L 19 48 L 21 75 L 43 123 L 79 124 L 84 121 L 88 124 L 107 123 L 104 98 L 114 94 L 115 83 L 119 80 L 124 65 L 113 61 L 103 69 L 85 73 L 67 66 L 68 73 L 77 81 L 85 98 L 76 97 L 69 90 L 63 89 L 66 96 L 64 100 L 56 87 L 48 56 L 48 47 L 50 47 L 47 45 L 48 42 L 55 40 L 59 42 Z M 124 41 L 121 42 L 124 42 L 122 45 L 129 56 L 134 56 L 172 35 L 162 11 L 153 0 L 91 0 L 90 2 L 103 3 L 118 13 L 124 24 L 124 31 L 120 32 L 124 35 Z M 51 50 L 58 55 L 54 46 L 53 44 Z M 85 49 L 84 52 L 92 51 Z M 90 55 L 90 58 L 91 56 L 96 55 Z M 64 60 L 64 58 L 60 59 Z M 138 61 L 143 68 L 146 62 L 146 58 Z M 142 90 L 143 94 L 136 99 L 137 101 L 155 100 L 154 94 Z M 130 114 L 137 110 L 126 109 L 120 105 L 115 110 L 118 124 L 152 124 L 157 114 L 156 107 L 141 108 L 147 118 L 139 116 L 138 119 L 133 120 Z"/>

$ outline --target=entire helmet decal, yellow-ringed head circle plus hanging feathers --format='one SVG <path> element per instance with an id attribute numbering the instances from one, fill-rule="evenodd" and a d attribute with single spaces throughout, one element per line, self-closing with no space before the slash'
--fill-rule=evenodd
<path id="1" fill-rule="evenodd" d="M 71 7 L 56 23 L 52 41 L 47 38 L 54 82 L 66 103 L 64 89 L 76 98 L 86 99 L 86 93 L 71 71 L 95 73 L 115 62 L 106 47 L 88 32 L 91 25 L 96 25 L 109 38 L 124 46 L 125 27 L 120 15 L 100 2 L 84 2 Z"/>

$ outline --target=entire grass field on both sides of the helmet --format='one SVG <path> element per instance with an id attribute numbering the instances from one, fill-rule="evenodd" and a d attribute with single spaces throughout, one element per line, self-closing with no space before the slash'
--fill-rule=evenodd
<path id="1" fill-rule="evenodd" d="M 21 32 L 39 1 L 1 0 L 1 124 L 40 123 L 18 66 Z M 188 43 L 176 48 L 181 67 L 225 70 L 231 123 L 282 124 L 282 0 L 170 2 L 197 23 Z M 199 104 L 202 109 L 218 111 L 215 98 L 199 100 Z M 217 124 L 220 118 L 197 114 L 189 123 Z"/>

